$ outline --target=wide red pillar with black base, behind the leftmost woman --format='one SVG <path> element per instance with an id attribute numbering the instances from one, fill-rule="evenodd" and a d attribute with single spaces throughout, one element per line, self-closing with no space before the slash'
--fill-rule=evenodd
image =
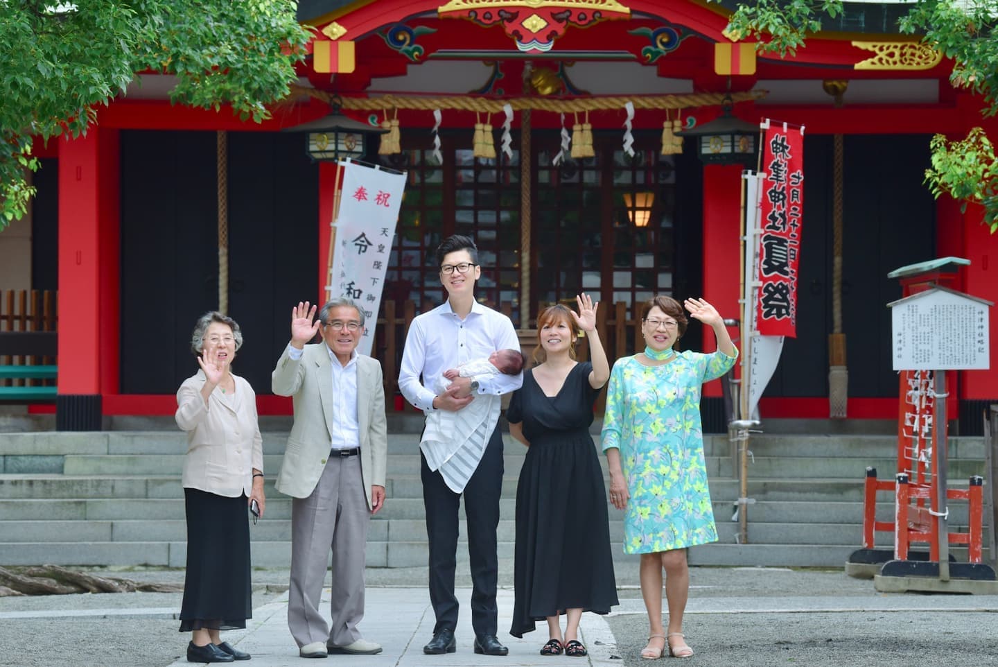
<path id="1" fill-rule="evenodd" d="M 61 140 L 60 430 L 99 430 L 101 392 L 117 390 L 118 187 L 117 131 Z"/>

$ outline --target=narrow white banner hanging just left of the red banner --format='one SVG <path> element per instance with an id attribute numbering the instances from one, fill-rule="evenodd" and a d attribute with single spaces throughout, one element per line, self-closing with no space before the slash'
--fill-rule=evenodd
<path id="1" fill-rule="evenodd" d="M 779 362 L 779 354 L 783 350 L 782 335 L 761 335 L 758 333 L 758 235 L 759 198 L 761 197 L 761 174 L 746 172 L 746 308 L 744 313 L 749 316 L 749 356 L 743 366 L 744 386 L 749 387 L 749 413 L 743 418 L 754 418 L 758 400 L 762 397 L 765 385 L 772 378 Z"/>

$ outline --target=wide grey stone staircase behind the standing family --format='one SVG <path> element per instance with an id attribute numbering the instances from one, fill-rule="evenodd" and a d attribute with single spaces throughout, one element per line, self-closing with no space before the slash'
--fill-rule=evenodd
<path id="1" fill-rule="evenodd" d="M 251 526 L 254 566 L 282 567 L 290 559 L 290 499 L 273 489 L 288 421 L 264 418 L 266 516 Z M 180 472 L 186 439 L 172 419 L 123 420 L 114 427 L 154 430 L 0 433 L 0 564 L 165 565 L 186 558 L 184 494 Z M 367 563 L 374 567 L 423 565 L 427 558 L 419 481 L 418 415 L 392 415 L 388 445 L 388 499 L 371 521 Z M 820 424 L 818 424 L 820 426 Z M 595 427 L 594 427 L 595 430 Z M 598 437 L 597 437 L 598 440 Z M 749 448 L 749 543 L 738 543 L 733 520 L 739 497 L 737 460 L 726 436 L 705 440 L 711 496 L 721 539 L 695 547 L 698 565 L 841 567 L 860 546 L 862 487 L 867 465 L 893 476 L 895 438 L 883 434 L 753 435 Z M 507 436 L 506 474 L 499 525 L 500 557 L 512 558 L 516 480 L 524 448 Z M 604 468 L 606 461 L 603 460 Z M 984 474 L 982 438 L 950 441 L 952 486 Z M 878 518 L 893 513 L 890 494 Z M 954 504 L 950 525 L 966 529 L 967 508 Z M 462 535 L 466 534 L 462 525 Z M 615 558 L 622 553 L 622 513 L 610 506 Z M 892 545 L 879 533 L 878 546 Z M 957 558 L 963 558 L 954 549 Z M 467 558 L 465 544 L 458 558 Z"/>

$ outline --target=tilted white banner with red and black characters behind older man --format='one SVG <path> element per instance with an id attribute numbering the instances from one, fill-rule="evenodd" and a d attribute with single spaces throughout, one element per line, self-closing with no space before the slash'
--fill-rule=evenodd
<path id="1" fill-rule="evenodd" d="M 357 351 L 369 355 L 405 190 L 405 173 L 349 160 L 339 164 L 343 181 L 339 215 L 333 223 L 336 245 L 325 291 L 328 299 L 352 299 L 363 312 L 366 331 Z"/>

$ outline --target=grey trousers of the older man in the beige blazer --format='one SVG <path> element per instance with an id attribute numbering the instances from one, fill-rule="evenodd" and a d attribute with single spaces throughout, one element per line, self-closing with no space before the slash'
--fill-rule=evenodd
<path id="1" fill-rule="evenodd" d="M 298 648 L 312 642 L 346 646 L 361 638 L 364 616 L 364 551 L 370 510 L 360 476 L 360 456 L 327 459 L 307 498 L 291 500 L 291 581 L 287 627 Z M 332 625 L 318 611 L 332 549 Z"/>

